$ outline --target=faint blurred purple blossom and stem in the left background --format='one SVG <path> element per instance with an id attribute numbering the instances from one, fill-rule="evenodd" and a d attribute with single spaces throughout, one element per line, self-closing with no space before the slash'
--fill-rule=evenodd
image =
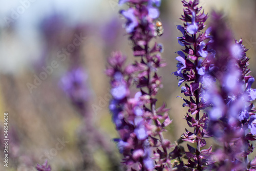
<path id="1" fill-rule="evenodd" d="M 98 130 L 95 126 L 93 112 L 89 105 L 91 90 L 88 87 L 88 79 L 86 71 L 82 67 L 76 65 L 73 66 L 60 81 L 61 88 L 67 94 L 71 103 L 83 119 L 83 124 L 78 130 L 78 147 L 81 151 L 83 160 L 81 166 L 77 167 L 79 169 L 96 169 L 96 165 L 92 160 L 93 151 L 90 146 L 98 145 L 104 149 L 104 152 L 111 161 L 111 169 L 120 170 L 118 160 L 113 155 L 114 149 L 111 148 L 108 141 L 106 141 L 106 137 L 103 136 L 101 130 Z"/>

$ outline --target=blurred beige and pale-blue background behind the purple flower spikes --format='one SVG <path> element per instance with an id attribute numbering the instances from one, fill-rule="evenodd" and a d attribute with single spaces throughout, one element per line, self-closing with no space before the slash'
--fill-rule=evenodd
<path id="1" fill-rule="evenodd" d="M 109 78 L 104 69 L 112 51 L 120 50 L 133 61 L 131 43 L 122 28 L 118 0 L 0 0 L 0 130 L 8 112 L 9 163 L 0 170 L 36 170 L 46 160 L 52 170 L 121 170 L 113 138 Z M 256 1 L 202 0 L 205 13 L 223 11 L 234 38 L 243 38 L 250 50 L 256 76 Z M 166 102 L 174 119 L 165 138 L 172 142 L 184 132 L 187 109 L 177 78 L 177 42 L 183 14 L 179 0 L 163 0 L 160 19 L 167 66 L 159 72 Z M 255 83 L 252 86 L 255 88 Z"/>

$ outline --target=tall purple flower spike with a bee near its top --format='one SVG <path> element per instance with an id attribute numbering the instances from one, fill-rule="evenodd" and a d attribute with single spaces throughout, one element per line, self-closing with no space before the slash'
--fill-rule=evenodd
<path id="1" fill-rule="evenodd" d="M 159 88 L 162 88 L 161 77 L 157 74 L 159 68 L 164 67 L 160 53 L 163 51 L 161 44 L 155 42 L 150 47 L 150 41 L 163 34 L 162 23 L 157 20 L 159 17 L 160 0 L 139 0 L 139 1 L 120 1 L 120 4 L 126 2 L 129 9 L 120 13 L 127 19 L 125 29 L 129 34 L 129 39 L 133 43 L 134 56 L 140 57 L 140 62 L 135 62 L 134 67 L 139 72 L 134 76 L 137 88 L 140 88 L 141 99 L 144 100 L 143 111 L 146 120 L 149 121 L 146 127 L 151 145 L 156 147 L 154 151 L 155 169 L 169 170 L 170 159 L 168 157 L 168 148 L 170 142 L 164 139 L 162 132 L 166 131 L 164 127 L 168 126 L 170 120 L 168 110 L 163 104 L 156 109 L 156 94 Z M 164 122 L 160 122 L 164 120 Z"/>

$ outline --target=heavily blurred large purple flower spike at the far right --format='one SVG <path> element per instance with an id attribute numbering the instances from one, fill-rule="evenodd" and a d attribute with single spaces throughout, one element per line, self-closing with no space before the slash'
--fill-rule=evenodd
<path id="1" fill-rule="evenodd" d="M 212 16 L 210 46 L 216 54 L 211 59 L 214 68 L 203 81 L 205 99 L 213 105 L 208 109 L 210 132 L 222 147 L 214 155 L 215 164 L 217 170 L 249 170 L 247 156 L 253 147 L 248 140 L 255 137 L 246 130 L 255 112 L 249 93 L 254 91 L 250 89 L 254 78 L 248 75 L 247 49 L 242 40 L 233 42 L 222 15 L 213 13 Z"/>

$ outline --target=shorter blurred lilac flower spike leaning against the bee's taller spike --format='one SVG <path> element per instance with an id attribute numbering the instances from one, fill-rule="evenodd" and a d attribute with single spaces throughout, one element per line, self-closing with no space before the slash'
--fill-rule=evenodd
<path id="1" fill-rule="evenodd" d="M 119 152 L 123 154 L 123 163 L 127 170 L 152 170 L 151 146 L 143 111 L 144 100 L 141 92 L 130 98 L 132 74 L 136 71 L 130 65 L 124 68 L 126 57 L 114 52 L 109 58 L 110 67 L 106 74 L 111 77 L 110 111 L 120 138 L 115 139 Z"/>

